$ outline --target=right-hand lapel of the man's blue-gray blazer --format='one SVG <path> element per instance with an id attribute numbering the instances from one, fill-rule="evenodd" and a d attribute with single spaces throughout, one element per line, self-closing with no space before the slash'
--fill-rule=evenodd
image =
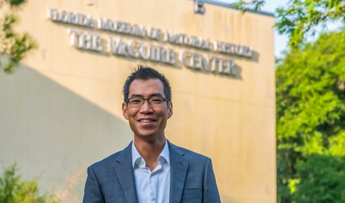
<path id="1" fill-rule="evenodd" d="M 184 180 L 188 170 L 188 161 L 183 158 L 184 153 L 168 142 L 170 153 L 170 203 L 181 201 L 182 191 L 184 190 Z"/>

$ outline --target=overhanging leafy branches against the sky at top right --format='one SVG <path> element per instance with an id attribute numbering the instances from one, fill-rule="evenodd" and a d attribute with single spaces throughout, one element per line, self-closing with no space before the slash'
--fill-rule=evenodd
<path id="1" fill-rule="evenodd" d="M 239 0 L 237 8 L 260 10 L 263 0 Z M 315 34 L 317 27 L 326 27 L 332 21 L 345 22 L 345 2 L 342 0 L 290 0 L 285 6 L 277 8 L 275 28 L 280 34 L 289 36 L 291 47 L 305 41 L 306 34 Z"/>

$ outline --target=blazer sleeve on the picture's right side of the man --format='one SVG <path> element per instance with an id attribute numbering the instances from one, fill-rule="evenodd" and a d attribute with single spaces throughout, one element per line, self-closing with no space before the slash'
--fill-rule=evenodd
<path id="1" fill-rule="evenodd" d="M 217 188 L 217 182 L 215 180 L 215 173 L 213 173 L 212 161 L 208 158 L 206 162 L 205 175 L 204 175 L 204 188 L 202 191 L 203 203 L 218 203 L 220 197 Z"/>

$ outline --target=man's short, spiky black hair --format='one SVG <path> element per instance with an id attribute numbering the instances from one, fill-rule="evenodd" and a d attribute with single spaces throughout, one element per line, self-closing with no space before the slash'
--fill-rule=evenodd
<path id="1" fill-rule="evenodd" d="M 148 80 L 148 79 L 159 79 L 164 85 L 164 95 L 166 96 L 166 101 L 171 101 L 171 87 L 168 79 L 164 76 L 164 74 L 160 74 L 157 70 L 154 70 L 152 67 L 148 67 L 147 65 L 138 64 L 137 67 L 133 69 L 133 72 L 128 76 L 124 83 L 124 88 L 122 89 L 122 93 L 124 94 L 124 102 L 128 102 L 128 94 L 129 94 L 129 87 L 130 83 L 135 79 L 141 80 Z"/>

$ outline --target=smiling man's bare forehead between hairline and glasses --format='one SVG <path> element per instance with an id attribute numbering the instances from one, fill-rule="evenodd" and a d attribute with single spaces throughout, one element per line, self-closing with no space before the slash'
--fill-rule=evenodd
<path id="1" fill-rule="evenodd" d="M 151 94 L 161 94 L 164 96 L 164 85 L 158 78 L 152 78 L 148 80 L 135 79 L 130 83 L 129 94 L 150 96 Z"/>

